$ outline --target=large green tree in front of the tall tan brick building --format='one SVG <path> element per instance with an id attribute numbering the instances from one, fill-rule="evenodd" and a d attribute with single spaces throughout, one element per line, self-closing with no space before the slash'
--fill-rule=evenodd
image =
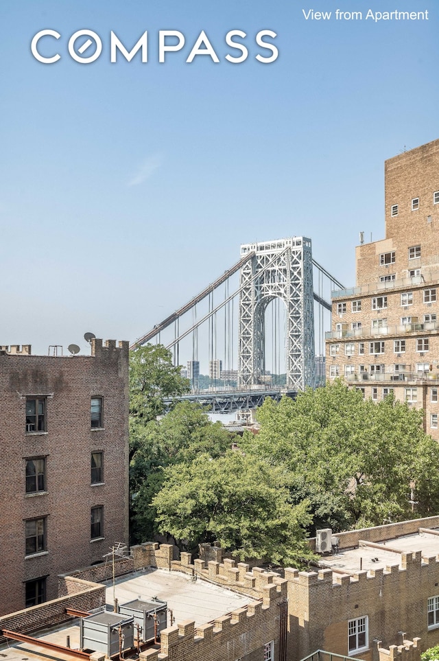
<path id="1" fill-rule="evenodd" d="M 243 447 L 288 469 L 292 501 L 309 499 L 315 528 L 374 526 L 438 507 L 439 445 L 424 434 L 422 415 L 392 396 L 364 401 L 335 381 L 296 401 L 266 401 L 261 431 Z"/>

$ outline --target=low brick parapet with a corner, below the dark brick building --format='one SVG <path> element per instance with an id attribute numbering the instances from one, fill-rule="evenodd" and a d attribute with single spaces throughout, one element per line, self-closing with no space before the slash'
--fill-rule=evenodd
<path id="1" fill-rule="evenodd" d="M 60 578 L 60 592 L 64 593 L 58 599 L 52 599 L 38 606 L 10 613 L 0 617 L 0 631 L 19 631 L 29 634 L 43 627 L 57 625 L 69 621 L 66 609 L 88 611 L 105 605 L 105 586 L 73 577 Z M 5 642 L 0 636 L 0 645 Z"/>

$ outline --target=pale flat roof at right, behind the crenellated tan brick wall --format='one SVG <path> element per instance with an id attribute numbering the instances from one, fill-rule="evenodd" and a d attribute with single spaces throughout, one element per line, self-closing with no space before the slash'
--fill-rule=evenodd
<path id="1" fill-rule="evenodd" d="M 436 533 L 436 534 L 435 534 Z M 332 569 L 334 572 L 354 574 L 372 569 L 385 569 L 398 565 L 401 567 L 402 553 L 420 551 L 422 557 L 434 557 L 439 554 L 439 530 L 423 530 L 412 535 L 394 537 L 384 542 L 359 542 L 356 548 L 340 550 L 333 555 L 322 555 L 319 564 L 322 568 Z"/>

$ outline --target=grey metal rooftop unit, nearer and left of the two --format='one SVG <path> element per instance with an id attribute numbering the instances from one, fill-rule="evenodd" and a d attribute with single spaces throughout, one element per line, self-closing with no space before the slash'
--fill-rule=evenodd
<path id="1" fill-rule="evenodd" d="M 105 652 L 108 658 L 118 654 L 119 628 L 122 651 L 134 647 L 134 618 L 105 610 L 81 618 L 81 649 Z"/>

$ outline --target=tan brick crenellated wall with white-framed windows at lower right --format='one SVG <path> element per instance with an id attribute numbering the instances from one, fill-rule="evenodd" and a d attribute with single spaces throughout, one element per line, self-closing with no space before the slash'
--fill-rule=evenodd
<path id="1" fill-rule="evenodd" d="M 439 643 L 439 628 L 427 628 L 427 601 L 439 594 L 439 561 L 421 560 L 420 551 L 403 553 L 401 569 L 390 566 L 352 577 L 329 569 L 285 570 L 288 581 L 289 658 L 297 661 L 316 649 L 348 653 L 348 621 L 368 617 L 368 650 L 354 656 L 372 661 L 374 640 L 401 645 L 401 634 L 421 639 L 423 650 Z M 334 581 L 335 578 L 335 581 Z"/>

